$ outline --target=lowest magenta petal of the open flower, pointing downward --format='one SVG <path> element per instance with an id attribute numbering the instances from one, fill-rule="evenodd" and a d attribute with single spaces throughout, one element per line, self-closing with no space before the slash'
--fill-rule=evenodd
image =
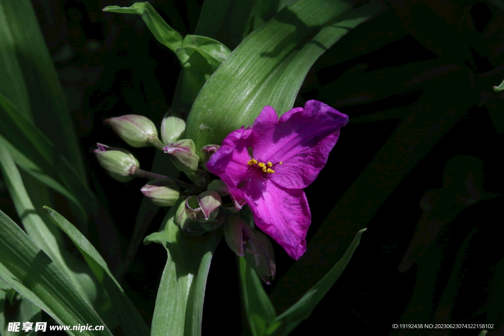
<path id="1" fill-rule="evenodd" d="M 306 251 L 305 238 L 311 221 L 303 190 L 286 189 L 269 182 L 259 197 L 250 197 L 249 188 L 255 186 L 250 184 L 243 191 L 257 226 L 279 243 L 289 256 L 299 259 Z"/>

